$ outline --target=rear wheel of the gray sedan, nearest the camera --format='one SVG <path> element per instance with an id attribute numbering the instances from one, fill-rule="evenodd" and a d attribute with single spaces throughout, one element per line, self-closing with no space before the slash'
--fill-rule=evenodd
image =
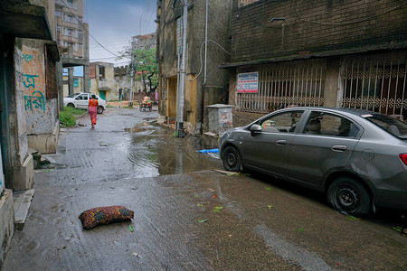
<path id="1" fill-rule="evenodd" d="M 328 188 L 327 200 L 336 210 L 361 217 L 372 210 L 372 197 L 362 183 L 349 177 L 337 178 Z"/>

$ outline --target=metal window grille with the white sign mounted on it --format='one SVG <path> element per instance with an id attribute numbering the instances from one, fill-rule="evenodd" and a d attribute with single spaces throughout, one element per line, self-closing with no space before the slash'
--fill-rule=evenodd
<path id="1" fill-rule="evenodd" d="M 259 69 L 258 93 L 237 93 L 236 110 L 269 113 L 284 107 L 319 107 L 324 104 L 327 62 L 296 61 L 273 63 Z"/>

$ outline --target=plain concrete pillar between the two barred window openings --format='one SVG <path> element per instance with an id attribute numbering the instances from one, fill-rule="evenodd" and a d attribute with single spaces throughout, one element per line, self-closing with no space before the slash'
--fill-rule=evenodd
<path id="1" fill-rule="evenodd" d="M 339 92 L 340 60 L 327 59 L 327 79 L 325 80 L 324 107 L 336 107 Z"/>

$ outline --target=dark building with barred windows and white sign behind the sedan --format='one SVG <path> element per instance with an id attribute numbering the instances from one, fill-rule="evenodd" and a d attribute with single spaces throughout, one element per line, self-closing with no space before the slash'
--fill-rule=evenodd
<path id="1" fill-rule="evenodd" d="M 234 0 L 231 41 L 236 126 L 288 106 L 407 117 L 405 1 Z"/>

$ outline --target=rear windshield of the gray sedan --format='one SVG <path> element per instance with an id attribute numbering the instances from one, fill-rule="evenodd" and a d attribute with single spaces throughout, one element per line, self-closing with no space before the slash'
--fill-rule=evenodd
<path id="1" fill-rule="evenodd" d="M 387 132 L 402 139 L 407 139 L 407 124 L 393 117 L 385 115 L 367 115 L 362 116 L 373 122 L 376 126 L 380 126 Z"/>

